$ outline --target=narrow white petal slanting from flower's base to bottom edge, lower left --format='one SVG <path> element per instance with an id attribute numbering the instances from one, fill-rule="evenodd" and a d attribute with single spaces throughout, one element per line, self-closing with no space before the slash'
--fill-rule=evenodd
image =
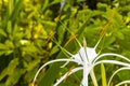
<path id="1" fill-rule="evenodd" d="M 54 86 L 57 86 L 62 81 L 65 80 L 65 77 L 66 77 L 67 75 L 70 75 L 70 74 L 73 74 L 73 73 L 75 73 L 75 72 L 77 72 L 77 71 L 79 71 L 79 70 L 82 70 L 82 69 L 83 69 L 82 67 L 77 67 L 77 68 L 73 69 L 69 73 L 68 73 L 68 72 L 65 73 L 65 74 L 54 84 Z"/>

